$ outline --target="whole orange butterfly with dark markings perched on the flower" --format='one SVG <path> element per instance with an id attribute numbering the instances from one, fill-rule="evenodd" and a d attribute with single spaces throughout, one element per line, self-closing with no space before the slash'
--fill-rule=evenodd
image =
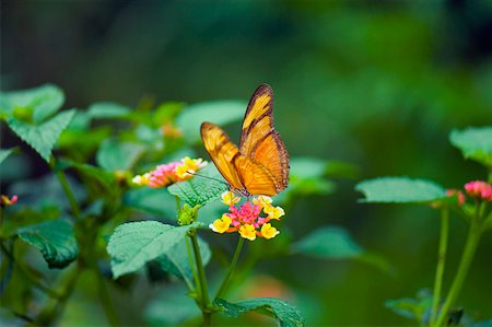
<path id="1" fill-rule="evenodd" d="M 274 196 L 289 184 L 289 153 L 273 126 L 273 90 L 261 84 L 246 109 L 239 148 L 216 125 L 203 122 L 203 145 L 230 189 L 249 197 Z"/>

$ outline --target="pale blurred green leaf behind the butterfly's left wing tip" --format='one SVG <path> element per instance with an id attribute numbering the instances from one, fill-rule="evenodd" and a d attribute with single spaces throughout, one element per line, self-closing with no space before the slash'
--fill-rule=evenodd
<path id="1" fill-rule="evenodd" d="M 242 101 L 203 102 L 186 107 L 176 119 L 188 142 L 200 140 L 200 126 L 210 121 L 219 126 L 239 121 L 244 117 L 247 104 Z"/>

